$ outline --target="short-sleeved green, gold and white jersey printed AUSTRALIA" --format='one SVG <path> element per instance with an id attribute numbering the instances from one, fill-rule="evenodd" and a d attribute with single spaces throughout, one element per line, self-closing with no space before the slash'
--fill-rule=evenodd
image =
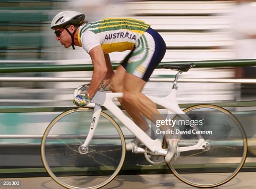
<path id="1" fill-rule="evenodd" d="M 101 45 L 104 53 L 133 50 L 135 43 L 150 27 L 141 20 L 106 18 L 79 27 L 78 42 L 88 53 Z"/>

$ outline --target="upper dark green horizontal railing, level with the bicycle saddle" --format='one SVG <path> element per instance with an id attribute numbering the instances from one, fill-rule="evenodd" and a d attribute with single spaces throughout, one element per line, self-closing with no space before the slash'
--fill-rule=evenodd
<path id="1" fill-rule="evenodd" d="M 43 63 L 43 62 L 41 62 Z M 256 59 L 241 60 L 203 60 L 203 61 L 179 61 L 179 62 L 161 62 L 157 68 L 164 64 L 190 64 L 195 63 L 196 68 L 202 67 L 237 67 L 237 66 L 256 66 Z M 115 69 L 118 63 L 112 64 Z M 70 71 L 92 71 L 93 65 L 29 65 L 29 66 L 2 66 L 0 73 L 17 72 L 70 72 Z"/>

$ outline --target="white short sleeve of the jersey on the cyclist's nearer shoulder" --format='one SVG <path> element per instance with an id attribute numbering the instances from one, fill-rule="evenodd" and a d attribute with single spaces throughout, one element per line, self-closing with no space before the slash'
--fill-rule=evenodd
<path id="1" fill-rule="evenodd" d="M 92 31 L 85 31 L 82 36 L 81 36 L 81 42 L 82 42 L 82 47 L 86 52 L 90 52 L 93 47 L 96 47 L 100 45 L 99 40 L 97 39 L 97 36 L 95 35 L 94 32 Z"/>

